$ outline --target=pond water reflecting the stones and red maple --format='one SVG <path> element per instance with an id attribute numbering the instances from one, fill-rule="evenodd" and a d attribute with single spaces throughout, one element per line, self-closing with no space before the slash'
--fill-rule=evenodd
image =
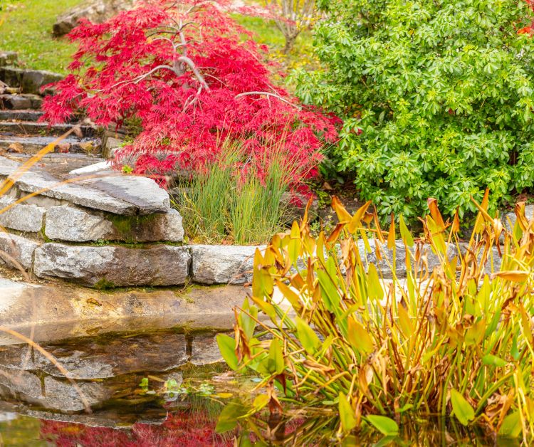
<path id="1" fill-rule="evenodd" d="M 171 329 L 41 342 L 70 379 L 36 347 L 0 346 L 0 445 L 234 446 L 234 436 L 239 446 L 519 445 L 451 419 L 402 421 L 394 438 L 363 431 L 340 440 L 325 414 L 254 415 L 241 432 L 219 435 L 220 402 L 256 383 L 225 371 L 214 335 Z"/>

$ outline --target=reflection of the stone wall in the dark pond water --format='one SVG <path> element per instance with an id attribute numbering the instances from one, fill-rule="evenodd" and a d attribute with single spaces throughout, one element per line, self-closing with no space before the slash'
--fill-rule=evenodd
<path id="1" fill-rule="evenodd" d="M 108 333 L 41 344 L 68 371 L 27 345 L 0 346 L 0 400 L 21 401 L 29 408 L 44 407 L 63 412 L 95 409 L 120 399 L 135 404 L 139 384 L 152 377 L 156 384 L 183 381 L 182 369 L 216 360 L 214 335 L 162 332 Z M 192 354 L 194 352 L 194 354 Z M 190 374 L 190 372 L 189 372 Z M 145 400 L 157 396 L 145 396 Z"/>

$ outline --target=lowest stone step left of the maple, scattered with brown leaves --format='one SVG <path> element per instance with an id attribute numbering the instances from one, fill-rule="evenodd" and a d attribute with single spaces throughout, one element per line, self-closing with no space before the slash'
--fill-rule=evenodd
<path id="1" fill-rule="evenodd" d="M 0 149 L 11 152 L 36 154 L 43 147 L 54 142 L 56 137 L 0 136 Z M 55 152 L 100 153 L 100 139 L 67 137 L 56 146 Z"/>

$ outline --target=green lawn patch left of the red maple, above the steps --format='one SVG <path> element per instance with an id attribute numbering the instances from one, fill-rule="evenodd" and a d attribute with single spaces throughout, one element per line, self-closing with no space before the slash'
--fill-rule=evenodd
<path id="1" fill-rule="evenodd" d="M 66 73 L 75 46 L 53 38 L 59 14 L 82 0 L 4 0 L 0 11 L 0 51 L 16 51 L 24 68 Z"/>

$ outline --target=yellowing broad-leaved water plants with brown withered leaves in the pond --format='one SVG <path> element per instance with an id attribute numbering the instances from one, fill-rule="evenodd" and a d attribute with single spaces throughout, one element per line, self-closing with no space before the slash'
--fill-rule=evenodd
<path id="1" fill-rule="evenodd" d="M 414 238 L 400 219 L 396 245 L 393 218 L 382 231 L 370 203 L 351 216 L 334 199 L 340 223 L 329 236 L 313 237 L 305 217 L 256 251 L 235 339 L 219 335 L 229 366 L 261 377 L 256 388 L 266 392 L 255 409 L 330 410 L 340 434 L 367 424 L 394 434 L 402 416 L 454 414 L 461 424 L 528 442 L 534 221 L 518 204 L 508 231 L 486 211 L 488 191 L 476 207 L 468 243 L 459 240 L 458 215 L 445 222 L 429 199 L 422 236 Z M 367 261 L 372 246 L 387 272 Z M 501 268 L 493 271 L 499 253 Z M 405 280 L 396 274 L 401 263 Z"/>

